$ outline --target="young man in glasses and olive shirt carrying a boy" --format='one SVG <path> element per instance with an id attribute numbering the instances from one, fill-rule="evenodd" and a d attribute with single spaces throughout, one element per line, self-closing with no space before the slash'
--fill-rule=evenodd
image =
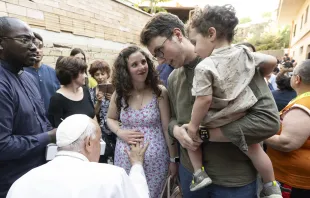
<path id="1" fill-rule="evenodd" d="M 263 79 L 273 68 L 256 70 L 249 86 L 258 102 L 246 116 L 221 128 L 201 131 L 204 167 L 213 184 L 190 192 L 193 167 L 186 149 L 195 151 L 201 143 L 194 142 L 183 125 L 191 119 L 195 101 L 191 93 L 194 69 L 201 59 L 195 53 L 195 46 L 185 36 L 183 22 L 170 13 L 153 16 L 143 28 L 140 41 L 157 58 L 159 64 L 174 67 L 167 88 L 172 115 L 168 131 L 181 144 L 179 177 L 183 197 L 256 197 L 257 172 L 252 162 L 239 148 L 227 142 L 223 133 L 243 133 L 247 144 L 256 144 L 274 135 L 279 129 L 276 105 Z M 266 116 L 268 119 L 262 119 Z"/>

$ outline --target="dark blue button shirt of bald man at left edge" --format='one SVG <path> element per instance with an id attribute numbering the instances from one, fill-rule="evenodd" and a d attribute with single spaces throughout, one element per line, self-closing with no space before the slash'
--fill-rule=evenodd
<path id="1" fill-rule="evenodd" d="M 0 198 L 32 168 L 45 163 L 45 116 L 39 85 L 34 77 L 0 60 Z"/>

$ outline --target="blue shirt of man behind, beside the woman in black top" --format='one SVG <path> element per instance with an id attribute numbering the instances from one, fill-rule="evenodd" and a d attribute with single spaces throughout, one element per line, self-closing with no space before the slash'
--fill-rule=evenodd
<path id="1" fill-rule="evenodd" d="M 47 112 L 51 97 L 60 88 L 55 70 L 44 64 L 38 69 L 34 67 L 25 67 L 24 70 L 31 73 L 37 79 L 44 107 Z"/>

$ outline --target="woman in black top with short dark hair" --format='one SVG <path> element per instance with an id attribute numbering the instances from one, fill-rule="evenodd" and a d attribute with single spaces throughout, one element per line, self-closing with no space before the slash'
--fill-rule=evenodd
<path id="1" fill-rule="evenodd" d="M 61 85 L 52 96 L 48 118 L 57 128 L 66 117 L 73 114 L 85 114 L 95 117 L 95 109 L 85 85 L 87 65 L 78 58 L 64 57 L 56 64 L 56 75 Z"/>

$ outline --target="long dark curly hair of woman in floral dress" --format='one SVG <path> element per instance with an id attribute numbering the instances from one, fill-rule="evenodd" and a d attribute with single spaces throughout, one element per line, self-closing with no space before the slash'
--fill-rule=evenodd
<path id="1" fill-rule="evenodd" d="M 143 56 L 145 56 L 148 65 L 148 74 L 145 84 L 152 88 L 157 97 L 160 97 L 161 95 L 158 73 L 155 70 L 152 60 L 149 58 L 148 54 L 139 47 L 129 46 L 119 53 L 113 65 L 112 84 L 114 85 L 116 91 L 115 102 L 118 112 L 120 112 L 123 107 L 126 110 L 129 106 L 128 100 L 131 96 L 130 92 L 133 90 L 133 84 L 128 70 L 128 58 L 131 54 L 136 52 L 140 52 Z"/>

